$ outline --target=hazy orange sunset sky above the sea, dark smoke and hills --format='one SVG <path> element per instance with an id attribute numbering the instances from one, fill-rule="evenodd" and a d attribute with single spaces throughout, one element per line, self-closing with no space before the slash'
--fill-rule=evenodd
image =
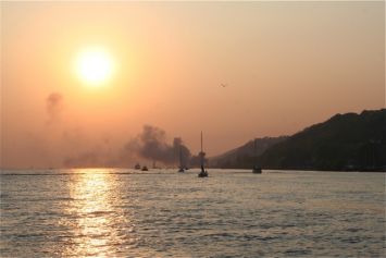
<path id="1" fill-rule="evenodd" d="M 211 157 L 385 107 L 383 1 L 0 4 L 2 168 L 132 165 L 146 128 Z"/>

